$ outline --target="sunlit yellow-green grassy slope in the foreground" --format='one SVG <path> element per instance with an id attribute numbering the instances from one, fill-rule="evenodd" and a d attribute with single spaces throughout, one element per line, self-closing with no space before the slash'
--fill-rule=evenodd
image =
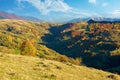
<path id="1" fill-rule="evenodd" d="M 120 80 L 118 75 L 35 57 L 0 53 L 0 80 Z"/>

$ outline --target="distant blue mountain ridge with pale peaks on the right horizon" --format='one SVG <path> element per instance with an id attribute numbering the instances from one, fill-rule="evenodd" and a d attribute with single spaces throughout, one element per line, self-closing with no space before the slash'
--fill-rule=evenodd
<path id="1" fill-rule="evenodd" d="M 108 22 L 119 22 L 120 18 L 104 18 L 104 17 L 89 17 L 89 18 L 76 18 L 73 20 L 70 20 L 68 22 L 81 22 L 81 21 L 89 21 L 89 20 L 94 20 L 94 21 L 108 21 Z"/>

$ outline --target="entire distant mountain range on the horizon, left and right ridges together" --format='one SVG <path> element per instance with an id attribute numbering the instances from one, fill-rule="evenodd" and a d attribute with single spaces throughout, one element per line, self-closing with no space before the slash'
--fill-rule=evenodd
<path id="1" fill-rule="evenodd" d="M 0 19 L 17 19 L 17 20 L 27 20 L 33 22 L 44 22 L 44 20 L 33 16 L 19 16 L 16 14 L 3 12 L 3 11 L 0 11 Z M 93 22 L 120 22 L 120 18 L 87 17 L 87 18 L 75 18 L 66 23 L 81 22 L 81 21 L 89 22 L 91 20 L 93 20 Z"/>

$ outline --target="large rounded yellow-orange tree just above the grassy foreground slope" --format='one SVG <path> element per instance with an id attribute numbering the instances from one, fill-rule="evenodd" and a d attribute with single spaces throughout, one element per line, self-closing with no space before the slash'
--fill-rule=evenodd
<path id="1" fill-rule="evenodd" d="M 26 39 L 23 41 L 20 51 L 22 55 L 32 55 L 35 56 L 36 54 L 36 48 L 32 44 L 32 42 L 29 39 Z"/>

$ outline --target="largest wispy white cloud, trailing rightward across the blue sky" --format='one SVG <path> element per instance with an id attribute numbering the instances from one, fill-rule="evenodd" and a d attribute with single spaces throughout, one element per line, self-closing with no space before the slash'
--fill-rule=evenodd
<path id="1" fill-rule="evenodd" d="M 44 15 L 48 15 L 50 12 L 63 12 L 66 16 L 81 16 L 81 17 L 89 17 L 90 13 L 85 11 L 81 11 L 69 6 L 64 0 L 17 0 L 18 5 L 22 6 L 22 2 L 30 3 L 36 9 L 39 10 L 40 13 Z"/>

